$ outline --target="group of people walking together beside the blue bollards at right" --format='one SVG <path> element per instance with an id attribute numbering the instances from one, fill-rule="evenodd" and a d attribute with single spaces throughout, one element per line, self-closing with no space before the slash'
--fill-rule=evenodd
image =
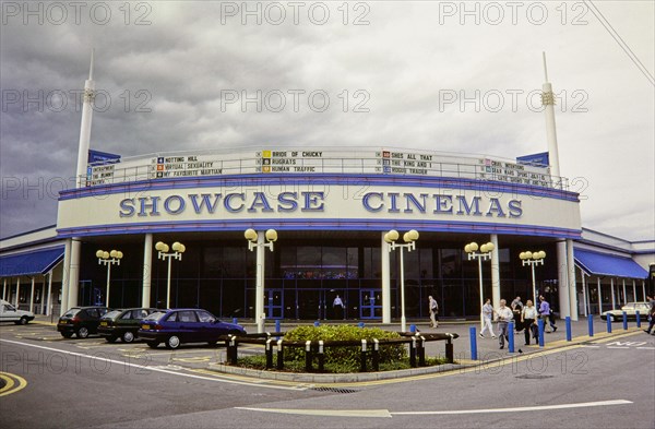
<path id="1" fill-rule="evenodd" d="M 501 299 L 499 308 L 496 310 L 493 306 L 491 306 L 491 299 L 488 298 L 483 306 L 484 325 L 480 331 L 480 338 L 485 337 L 485 332 L 491 334 L 491 338 L 497 337 L 493 333 L 493 326 L 491 325 L 492 320 L 496 320 L 498 322 L 500 348 L 504 348 L 505 339 L 509 341 L 510 334 L 514 334 L 513 332 L 509 332 L 509 323 L 514 320 L 516 332 L 524 331 L 525 345 L 528 346 L 531 335 L 535 339 L 535 343 L 538 341 L 537 326 L 539 319 L 544 321 L 545 329 L 548 329 L 548 331 L 546 331 L 547 333 L 557 331 L 553 311 L 544 296 L 539 296 L 538 309 L 533 305 L 531 299 L 528 299 L 524 306 L 523 302 L 521 302 L 521 297 L 516 297 L 510 307 L 507 307 L 507 301 Z"/>

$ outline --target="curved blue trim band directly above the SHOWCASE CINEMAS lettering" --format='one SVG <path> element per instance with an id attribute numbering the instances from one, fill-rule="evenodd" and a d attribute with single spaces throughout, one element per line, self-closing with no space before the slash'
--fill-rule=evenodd
<path id="1" fill-rule="evenodd" d="M 521 183 L 507 183 L 491 180 L 476 180 L 465 178 L 442 178 L 442 177 L 406 177 L 406 176 L 385 176 L 385 175 L 236 175 L 236 176 L 210 176 L 192 177 L 178 179 L 152 179 L 140 180 L 128 183 L 98 184 L 88 188 L 79 188 L 61 191 L 59 201 L 74 200 L 85 196 L 108 195 L 115 193 L 136 193 L 143 191 L 167 190 L 167 189 L 193 189 L 211 187 L 265 187 L 281 184 L 288 187 L 290 184 L 311 183 L 311 184 L 342 184 L 352 187 L 366 186 L 409 186 L 418 188 L 443 188 L 443 189 L 467 189 L 481 192 L 501 192 L 511 195 L 533 195 L 539 198 L 552 198 L 557 200 L 580 202 L 576 192 L 563 191 L 560 189 L 540 188 Z"/>

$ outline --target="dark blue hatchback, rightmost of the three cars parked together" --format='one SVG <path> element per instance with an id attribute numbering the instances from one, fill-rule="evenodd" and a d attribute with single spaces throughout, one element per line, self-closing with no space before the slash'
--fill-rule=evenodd
<path id="1" fill-rule="evenodd" d="M 155 348 L 164 343 L 167 348 L 178 348 L 184 343 L 216 344 L 222 335 L 243 335 L 238 324 L 222 322 L 214 314 L 200 309 L 162 310 L 141 322 L 139 337 Z"/>

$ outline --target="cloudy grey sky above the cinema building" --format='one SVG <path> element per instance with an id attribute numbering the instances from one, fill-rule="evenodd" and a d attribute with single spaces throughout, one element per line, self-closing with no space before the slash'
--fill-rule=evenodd
<path id="1" fill-rule="evenodd" d="M 123 156 L 271 145 L 544 152 L 546 51 L 561 174 L 581 194 L 583 226 L 655 238 L 653 1 L 1 5 L 2 237 L 56 222 L 93 47 L 105 96 L 91 147 Z M 261 111 L 228 103 L 258 91 L 272 95 Z"/>

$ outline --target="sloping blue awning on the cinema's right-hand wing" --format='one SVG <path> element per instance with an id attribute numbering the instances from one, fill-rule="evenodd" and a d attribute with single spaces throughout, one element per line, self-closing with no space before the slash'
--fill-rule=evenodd
<path id="1" fill-rule="evenodd" d="M 607 275 L 612 277 L 646 278 L 648 273 L 630 258 L 615 254 L 573 249 L 575 264 L 588 275 Z"/>

